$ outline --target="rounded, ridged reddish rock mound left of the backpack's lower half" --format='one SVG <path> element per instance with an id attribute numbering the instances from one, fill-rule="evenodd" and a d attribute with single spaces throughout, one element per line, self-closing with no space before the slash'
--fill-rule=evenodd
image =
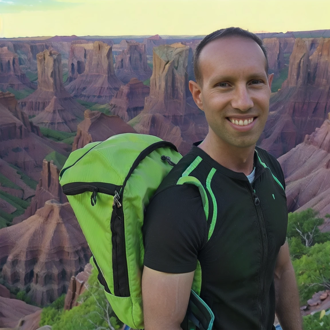
<path id="1" fill-rule="evenodd" d="M 90 251 L 69 203 L 45 203 L 35 215 L 0 229 L 2 278 L 39 305 L 67 292 L 70 279 L 83 270 Z"/>

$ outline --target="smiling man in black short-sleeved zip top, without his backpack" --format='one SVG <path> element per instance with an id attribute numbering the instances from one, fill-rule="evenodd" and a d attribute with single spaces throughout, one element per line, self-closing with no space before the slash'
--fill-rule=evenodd
<path id="1" fill-rule="evenodd" d="M 145 330 L 180 329 L 197 266 L 214 329 L 275 329 L 276 311 L 283 330 L 301 330 L 284 176 L 256 147 L 273 80 L 262 40 L 240 28 L 218 30 L 197 46 L 193 63 L 189 89 L 209 133 L 165 178 L 146 214 Z M 197 187 L 176 184 L 187 168 L 208 208 Z"/>

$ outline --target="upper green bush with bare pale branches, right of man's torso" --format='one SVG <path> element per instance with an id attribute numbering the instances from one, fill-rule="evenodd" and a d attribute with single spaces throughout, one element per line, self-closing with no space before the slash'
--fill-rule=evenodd
<path id="1" fill-rule="evenodd" d="M 288 214 L 287 237 L 298 237 L 306 247 L 315 243 L 324 243 L 330 240 L 329 233 L 321 233 L 318 229 L 323 222 L 323 218 L 318 218 L 318 212 L 307 209 L 301 212 L 290 212 Z"/>

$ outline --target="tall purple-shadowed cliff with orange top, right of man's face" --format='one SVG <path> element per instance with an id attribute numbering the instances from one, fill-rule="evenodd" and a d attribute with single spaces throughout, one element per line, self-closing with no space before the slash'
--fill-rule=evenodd
<path id="1" fill-rule="evenodd" d="M 270 100 L 269 117 L 259 139 L 276 157 L 303 142 L 330 111 L 330 38 L 297 38 L 289 75 Z"/>

